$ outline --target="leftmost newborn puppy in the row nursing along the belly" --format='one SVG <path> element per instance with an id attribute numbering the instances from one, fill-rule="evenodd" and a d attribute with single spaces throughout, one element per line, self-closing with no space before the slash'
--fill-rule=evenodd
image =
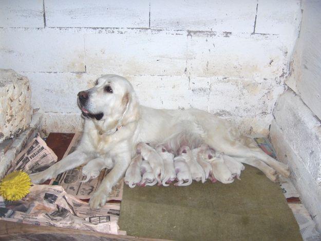
<path id="1" fill-rule="evenodd" d="M 125 174 L 125 183 L 129 188 L 136 187 L 136 184 L 139 184 L 142 180 L 142 175 L 140 172 L 140 166 L 142 164 L 143 157 L 140 154 L 137 154 L 133 159 L 131 159 L 130 165 Z"/>

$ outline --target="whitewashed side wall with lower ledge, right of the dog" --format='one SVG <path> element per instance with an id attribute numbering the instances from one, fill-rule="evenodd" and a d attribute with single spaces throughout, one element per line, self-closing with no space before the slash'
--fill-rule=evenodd
<path id="1" fill-rule="evenodd" d="M 291 89 L 277 99 L 270 136 L 321 231 L 321 1 L 303 0 L 301 8 L 300 34 L 285 82 Z"/>

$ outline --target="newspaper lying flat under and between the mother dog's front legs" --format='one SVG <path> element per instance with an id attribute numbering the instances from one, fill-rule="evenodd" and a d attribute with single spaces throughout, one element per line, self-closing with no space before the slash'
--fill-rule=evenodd
<path id="1" fill-rule="evenodd" d="M 81 134 L 76 133 L 71 140 L 70 145 L 64 155 L 67 156 L 72 153 L 77 145 L 79 144 Z M 95 191 L 100 186 L 100 183 L 104 177 L 110 172 L 111 169 L 103 169 L 100 172 L 100 175 L 97 178 L 91 179 L 87 182 L 81 182 L 86 179 L 86 176 L 82 174 L 82 166 L 66 171 L 58 175 L 54 180 L 50 182 L 53 185 L 62 186 L 66 192 L 70 195 L 73 195 L 79 199 L 89 199 L 90 196 L 95 193 Z M 108 196 L 107 201 L 117 200 L 120 201 L 123 196 L 123 179 L 121 179 L 115 186 L 112 188 L 111 193 Z"/>

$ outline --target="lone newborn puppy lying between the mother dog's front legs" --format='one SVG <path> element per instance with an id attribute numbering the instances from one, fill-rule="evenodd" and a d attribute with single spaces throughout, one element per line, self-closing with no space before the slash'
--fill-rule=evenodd
<path id="1" fill-rule="evenodd" d="M 100 171 L 104 168 L 111 169 L 114 166 L 111 158 L 96 158 L 89 161 L 85 166 L 82 168 L 83 176 L 86 176 L 85 180 L 80 182 L 87 182 L 90 178 L 96 178 L 99 176 Z"/>

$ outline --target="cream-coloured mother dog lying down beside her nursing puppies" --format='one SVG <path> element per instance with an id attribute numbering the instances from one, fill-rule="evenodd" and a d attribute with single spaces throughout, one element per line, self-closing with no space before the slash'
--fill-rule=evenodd
<path id="1" fill-rule="evenodd" d="M 153 109 L 139 104 L 133 86 L 123 77 L 105 75 L 92 88 L 78 94 L 85 117 L 78 149 L 47 170 L 31 175 L 40 183 L 79 165 L 98 161 L 113 169 L 90 198 L 91 208 L 104 205 L 112 187 L 122 178 L 139 142 L 165 145 L 177 153 L 181 145 L 192 145 L 182 135 L 197 136 L 217 152 L 256 166 L 275 181 L 277 173 L 289 176 L 288 166 L 247 144 L 237 129 L 224 120 L 198 109 Z M 195 144 L 195 143 L 194 143 Z M 194 148 L 197 146 L 190 146 Z M 276 173 L 276 172 L 277 173 Z"/>

